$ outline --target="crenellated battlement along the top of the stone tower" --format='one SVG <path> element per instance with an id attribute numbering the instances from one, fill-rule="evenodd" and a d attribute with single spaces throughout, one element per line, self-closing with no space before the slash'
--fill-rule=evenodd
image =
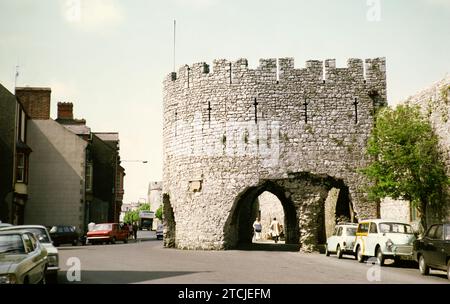
<path id="1" fill-rule="evenodd" d="M 202 81 L 205 83 L 209 80 L 230 85 L 249 82 L 277 82 L 289 85 L 302 81 L 340 83 L 349 80 L 376 84 L 386 81 L 386 61 L 385 58 L 365 61 L 350 58 L 346 67 L 339 68 L 335 59 L 308 60 L 304 68 L 295 68 L 293 58 L 268 58 L 260 59 L 259 65 L 251 69 L 247 59 L 244 58 L 236 61 L 216 59 L 212 63 L 212 68 L 205 62 L 199 62 L 191 66 L 181 66 L 176 73 L 166 77 L 166 81 L 172 81 L 184 88 L 192 88 L 194 83 Z"/>

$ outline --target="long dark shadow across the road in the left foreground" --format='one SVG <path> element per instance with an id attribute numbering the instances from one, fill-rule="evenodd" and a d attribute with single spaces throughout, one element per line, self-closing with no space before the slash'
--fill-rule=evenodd
<path id="1" fill-rule="evenodd" d="M 59 284 L 132 284 L 144 281 L 164 279 L 200 273 L 204 271 L 81 271 L 81 281 L 69 282 L 66 272 L 61 271 L 58 275 Z M 70 274 L 69 274 L 70 275 Z"/>

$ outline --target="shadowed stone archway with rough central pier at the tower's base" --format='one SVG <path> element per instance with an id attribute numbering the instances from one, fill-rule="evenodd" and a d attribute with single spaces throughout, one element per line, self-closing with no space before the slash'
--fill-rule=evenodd
<path id="1" fill-rule="evenodd" d="M 252 242 L 252 223 L 257 216 L 255 202 L 267 191 L 283 206 L 286 244 L 300 244 L 306 251 L 318 250 L 326 242 L 325 204 L 333 188 L 340 192 L 333 209 L 332 221 L 335 222 L 337 216 L 347 215 L 351 209 L 348 187 L 342 180 L 303 172 L 286 179 L 265 180 L 244 189 L 236 197 L 225 223 L 224 247 L 232 249 Z"/>

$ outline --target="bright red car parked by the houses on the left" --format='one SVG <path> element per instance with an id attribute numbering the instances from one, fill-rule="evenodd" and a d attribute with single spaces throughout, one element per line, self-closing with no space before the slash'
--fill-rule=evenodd
<path id="1" fill-rule="evenodd" d="M 86 244 L 115 244 L 116 241 L 128 243 L 128 234 L 128 229 L 122 229 L 117 223 L 97 224 L 87 233 Z"/>

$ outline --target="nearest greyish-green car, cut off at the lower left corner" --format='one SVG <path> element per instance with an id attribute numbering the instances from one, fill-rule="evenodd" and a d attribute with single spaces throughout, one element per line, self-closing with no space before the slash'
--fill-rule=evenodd
<path id="1" fill-rule="evenodd" d="M 47 250 L 26 230 L 0 231 L 0 284 L 46 283 Z"/>

